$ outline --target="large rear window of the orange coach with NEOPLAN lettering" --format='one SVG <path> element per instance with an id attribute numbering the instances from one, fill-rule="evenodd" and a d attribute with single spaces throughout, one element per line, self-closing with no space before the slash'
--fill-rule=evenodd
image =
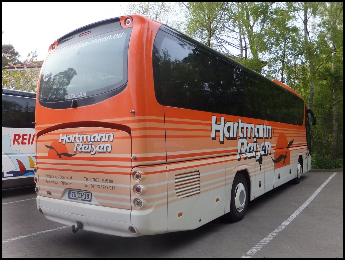
<path id="1" fill-rule="evenodd" d="M 41 105 L 70 108 L 72 99 L 78 99 L 78 106 L 90 105 L 126 86 L 131 28 L 122 29 L 115 22 L 87 30 L 91 33 L 82 37 L 85 28 L 62 37 L 57 49 L 48 55 L 39 86 Z"/>

